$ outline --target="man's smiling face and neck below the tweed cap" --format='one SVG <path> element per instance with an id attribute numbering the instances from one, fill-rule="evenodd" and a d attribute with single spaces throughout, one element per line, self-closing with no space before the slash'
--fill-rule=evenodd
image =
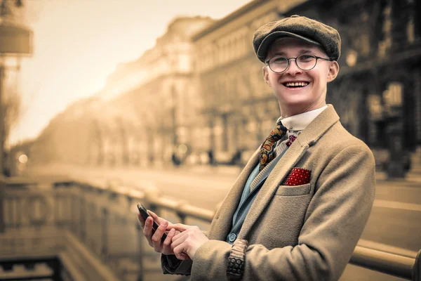
<path id="1" fill-rule="evenodd" d="M 266 61 L 276 56 L 295 58 L 302 54 L 328 58 L 319 46 L 300 39 L 283 38 L 274 41 L 269 47 Z M 312 70 L 300 70 L 292 59 L 284 72 L 275 73 L 265 66 L 263 75 L 265 82 L 274 91 L 282 116 L 288 117 L 326 105 L 327 83 L 335 79 L 338 70 L 338 63 L 328 60 L 317 60 Z M 301 82 L 301 86 L 288 84 L 292 82 Z"/>

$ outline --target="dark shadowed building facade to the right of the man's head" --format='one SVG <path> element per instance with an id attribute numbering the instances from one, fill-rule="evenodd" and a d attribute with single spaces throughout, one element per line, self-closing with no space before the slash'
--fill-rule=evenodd
<path id="1" fill-rule="evenodd" d="M 417 169 L 421 159 L 415 154 L 421 141 L 420 6 L 419 1 L 319 0 L 286 14 L 307 15 L 340 32 L 341 70 L 328 86 L 327 101 L 392 177 Z"/>

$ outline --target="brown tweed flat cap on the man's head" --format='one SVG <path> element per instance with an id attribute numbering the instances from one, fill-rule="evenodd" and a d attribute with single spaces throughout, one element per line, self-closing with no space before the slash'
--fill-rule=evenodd
<path id="1" fill-rule="evenodd" d="M 335 28 L 300 15 L 269 22 L 256 30 L 253 47 L 259 60 L 265 62 L 269 46 L 281 37 L 294 37 L 321 46 L 332 60 L 340 57 L 340 35 Z"/>

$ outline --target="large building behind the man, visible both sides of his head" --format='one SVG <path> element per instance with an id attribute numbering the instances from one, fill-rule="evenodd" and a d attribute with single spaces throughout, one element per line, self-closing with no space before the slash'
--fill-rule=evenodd
<path id="1" fill-rule="evenodd" d="M 341 34 L 341 70 L 327 101 L 342 124 L 370 145 L 380 169 L 392 176 L 419 171 L 419 1 L 252 1 L 196 34 L 208 148 L 229 159 L 236 150 L 255 150 L 272 129 L 279 109 L 251 39 L 266 22 L 294 14 Z"/>

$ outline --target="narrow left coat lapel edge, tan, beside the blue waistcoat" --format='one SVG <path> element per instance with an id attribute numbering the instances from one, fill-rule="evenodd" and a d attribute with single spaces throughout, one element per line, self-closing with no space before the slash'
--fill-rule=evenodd
<path id="1" fill-rule="evenodd" d="M 210 228 L 210 239 L 225 240 L 227 233 L 231 230 L 232 217 L 234 216 L 236 207 L 240 202 L 244 185 L 246 185 L 248 177 L 259 162 L 259 152 L 260 148 L 254 152 L 252 157 L 250 157 L 250 160 L 248 160 L 248 163 L 244 167 L 243 171 L 241 171 L 241 174 L 236 179 L 231 190 L 229 190 L 225 200 L 222 202 L 221 208 L 215 216 L 215 226 Z"/>

